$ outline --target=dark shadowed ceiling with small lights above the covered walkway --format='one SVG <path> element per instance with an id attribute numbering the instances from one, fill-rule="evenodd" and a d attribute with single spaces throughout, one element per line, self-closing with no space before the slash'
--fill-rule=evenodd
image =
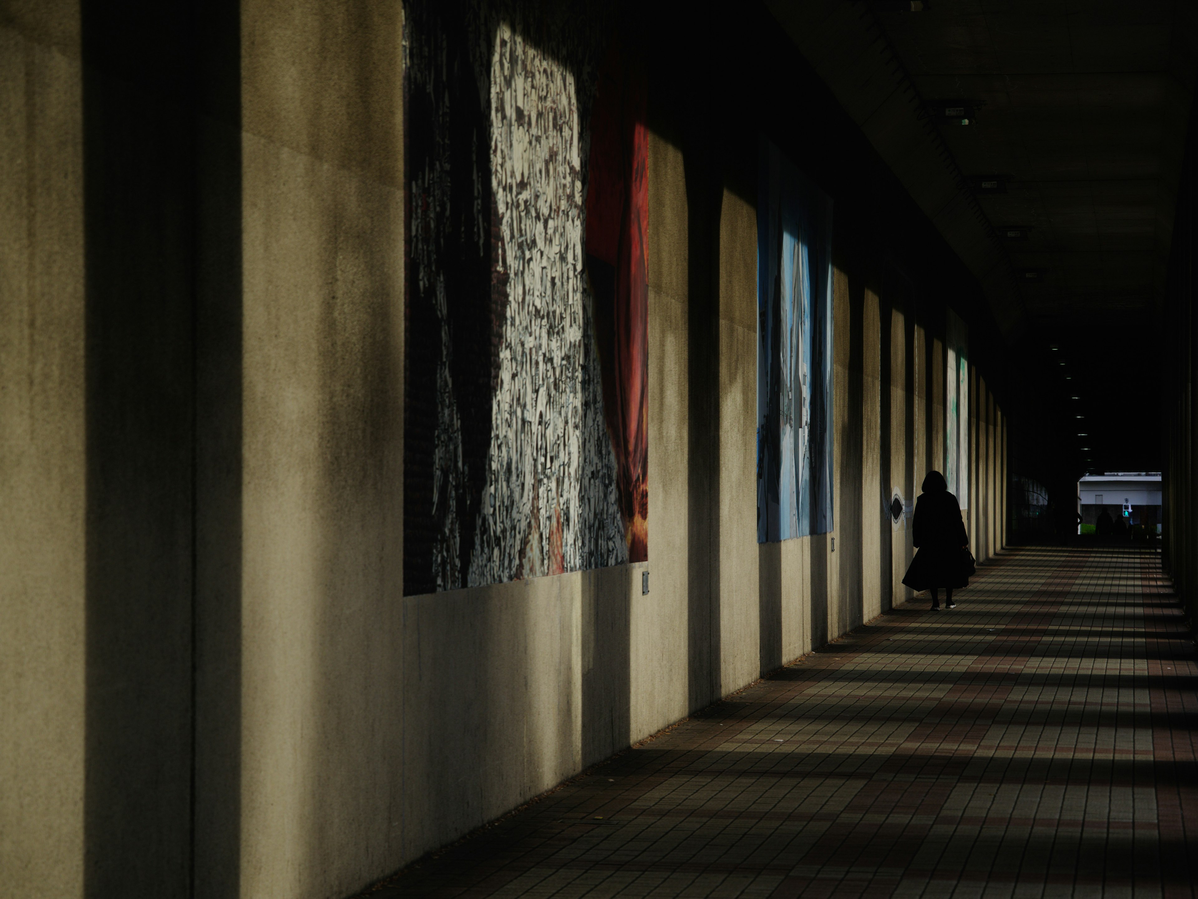
<path id="1" fill-rule="evenodd" d="M 1198 4 L 768 5 L 981 282 L 1027 423 L 1049 441 L 1037 464 L 1158 469 Z"/>

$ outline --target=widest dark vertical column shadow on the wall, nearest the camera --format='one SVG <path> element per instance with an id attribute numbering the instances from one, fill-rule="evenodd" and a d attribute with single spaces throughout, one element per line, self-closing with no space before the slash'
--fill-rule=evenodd
<path id="1" fill-rule="evenodd" d="M 236 4 L 80 5 L 84 62 L 87 897 L 193 894 L 196 553 L 229 748 L 211 826 L 236 893 L 241 195 L 237 114 L 199 140 L 210 62 L 240 95 Z M 222 29 L 224 29 L 222 34 Z M 208 85 L 204 90 L 211 90 Z M 228 110 L 226 110 L 228 111 Z M 201 158 L 202 157 L 202 158 Z M 205 170 L 214 183 L 200 183 Z M 206 217 L 206 218 L 205 218 Z M 198 247 L 216 241 L 207 259 Z M 205 286 L 196 290 L 196 284 Z M 212 302 L 212 308 L 207 303 Z M 204 322 L 196 312 L 205 304 Z M 198 405 L 196 328 L 220 333 Z M 201 376 L 200 380 L 205 380 Z M 202 416 L 202 417 L 201 417 Z M 208 441 L 196 455 L 198 426 Z M 201 452 L 204 452 L 201 447 Z M 196 466 L 208 477 L 196 481 Z M 201 491 L 202 490 L 202 495 Z M 196 520 L 198 505 L 208 513 Z M 202 538 L 202 539 L 201 539 Z M 220 743 L 220 740 L 217 740 Z M 212 859 L 208 859 L 212 861 Z"/>

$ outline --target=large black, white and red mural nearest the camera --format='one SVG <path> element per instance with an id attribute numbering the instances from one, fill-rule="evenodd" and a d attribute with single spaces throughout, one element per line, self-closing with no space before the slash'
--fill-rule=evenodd
<path id="1" fill-rule="evenodd" d="M 405 595 L 647 559 L 646 89 L 606 34 L 405 4 Z"/>

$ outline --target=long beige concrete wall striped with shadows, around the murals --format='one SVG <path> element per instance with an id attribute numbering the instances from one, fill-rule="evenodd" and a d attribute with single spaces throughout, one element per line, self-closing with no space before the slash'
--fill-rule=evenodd
<path id="1" fill-rule="evenodd" d="M 0 5 L 0 893 L 346 895 L 909 596 L 944 302 L 834 104 L 834 530 L 756 542 L 756 132 L 659 72 L 651 561 L 404 597 L 401 8 L 176 12 Z"/>

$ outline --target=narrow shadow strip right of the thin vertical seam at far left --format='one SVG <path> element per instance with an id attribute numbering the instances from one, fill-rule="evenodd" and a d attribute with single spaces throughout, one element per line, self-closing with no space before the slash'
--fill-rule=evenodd
<path id="1" fill-rule="evenodd" d="M 193 891 L 241 894 L 242 153 L 240 2 L 198 23 Z"/>

